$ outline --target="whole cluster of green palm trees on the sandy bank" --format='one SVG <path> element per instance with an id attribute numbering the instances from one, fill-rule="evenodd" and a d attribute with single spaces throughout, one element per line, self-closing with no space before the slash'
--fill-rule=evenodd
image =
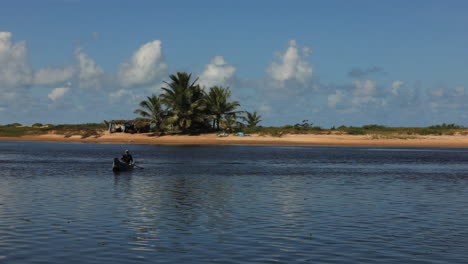
<path id="1" fill-rule="evenodd" d="M 183 133 L 195 130 L 220 130 L 236 127 L 255 127 L 261 116 L 240 111 L 238 101 L 230 101 L 229 88 L 213 86 L 205 91 L 197 84 L 198 78 L 186 72 L 169 76 L 158 96 L 153 94 L 140 102 L 140 109 L 134 113 L 142 116 L 156 131 L 167 128 Z M 239 122 L 239 120 L 245 123 Z"/>

